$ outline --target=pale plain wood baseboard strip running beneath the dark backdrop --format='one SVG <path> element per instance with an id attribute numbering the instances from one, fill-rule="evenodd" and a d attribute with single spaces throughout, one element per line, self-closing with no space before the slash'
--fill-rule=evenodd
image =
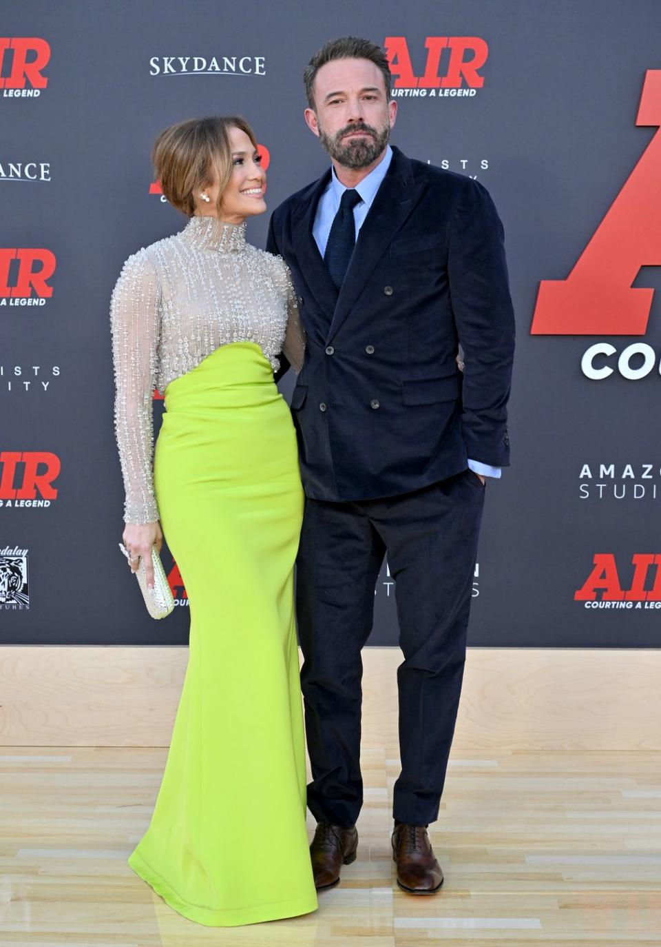
<path id="1" fill-rule="evenodd" d="M 186 659 L 175 647 L 2 647 L 0 745 L 166 746 Z M 401 660 L 394 648 L 364 653 L 364 725 L 381 745 Z M 658 750 L 660 679 L 658 651 L 471 649 L 455 746 Z"/>

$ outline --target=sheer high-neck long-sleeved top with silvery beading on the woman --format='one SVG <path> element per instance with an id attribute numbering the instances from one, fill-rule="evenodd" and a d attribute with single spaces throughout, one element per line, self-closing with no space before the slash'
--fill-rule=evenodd
<path id="1" fill-rule="evenodd" d="M 127 523 L 153 523 L 154 388 L 219 346 L 254 342 L 274 370 L 285 353 L 297 371 L 304 332 L 287 265 L 246 241 L 246 224 L 193 217 L 173 237 L 127 259 L 111 302 L 114 420 Z"/>

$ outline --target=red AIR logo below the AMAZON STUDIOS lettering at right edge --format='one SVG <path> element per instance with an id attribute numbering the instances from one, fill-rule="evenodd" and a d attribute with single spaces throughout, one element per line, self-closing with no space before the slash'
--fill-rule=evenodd
<path id="1" fill-rule="evenodd" d="M 633 573 L 627 567 L 626 577 L 618 572 L 615 556 L 610 552 L 597 553 L 593 563 L 590 575 L 574 593 L 574 599 L 585 602 L 585 608 L 661 608 L 658 553 L 636 553 L 632 558 Z"/>

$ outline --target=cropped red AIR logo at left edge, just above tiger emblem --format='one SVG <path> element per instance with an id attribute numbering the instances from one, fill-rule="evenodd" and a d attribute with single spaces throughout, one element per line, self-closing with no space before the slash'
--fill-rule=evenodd
<path id="1" fill-rule="evenodd" d="M 0 506 L 49 507 L 60 470 L 60 457 L 47 451 L 0 451 Z"/>

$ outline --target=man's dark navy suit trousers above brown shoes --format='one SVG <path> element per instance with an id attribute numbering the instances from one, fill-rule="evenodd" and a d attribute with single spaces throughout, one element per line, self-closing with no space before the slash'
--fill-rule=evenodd
<path id="1" fill-rule="evenodd" d="M 305 500 L 297 560 L 301 683 L 312 766 L 307 804 L 348 827 L 362 806 L 360 652 L 384 556 L 395 581 L 401 773 L 393 815 L 438 818 L 466 656 L 484 487 L 465 470 L 423 490 L 354 503 Z"/>

